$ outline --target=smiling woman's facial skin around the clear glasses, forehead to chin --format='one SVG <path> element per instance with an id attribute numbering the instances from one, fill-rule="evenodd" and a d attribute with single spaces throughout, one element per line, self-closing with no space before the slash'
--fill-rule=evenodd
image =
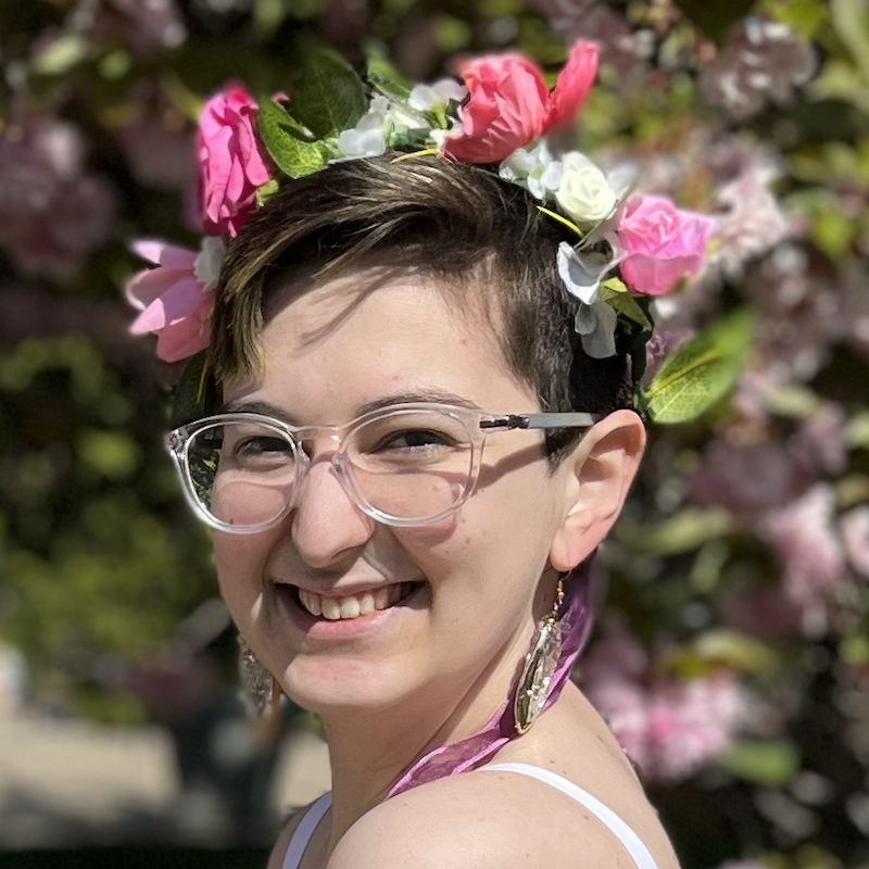
<path id="1" fill-rule="evenodd" d="M 340 425 L 370 402 L 420 393 L 493 414 L 539 410 L 493 336 L 452 312 L 432 280 L 392 277 L 357 298 L 365 278 L 313 285 L 278 310 L 263 331 L 262 375 L 229 383 L 226 408 L 270 405 L 298 425 Z M 215 533 L 229 610 L 294 701 L 320 714 L 406 707 L 461 696 L 499 667 L 513 675 L 570 507 L 569 464 L 552 474 L 540 442 L 536 431 L 489 436 L 479 484 L 458 512 L 434 526 L 395 528 L 348 498 L 330 464 L 336 444 L 324 436 L 277 527 Z M 405 601 L 350 619 L 314 616 L 299 596 L 301 589 L 308 603 L 382 599 L 408 582 L 420 584 Z"/>

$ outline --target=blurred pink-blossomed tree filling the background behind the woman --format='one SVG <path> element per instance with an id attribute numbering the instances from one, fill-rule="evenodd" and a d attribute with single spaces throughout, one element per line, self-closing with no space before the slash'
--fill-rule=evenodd
<path id="1" fill-rule="evenodd" d="M 650 367 L 738 310 L 751 351 L 701 421 L 651 432 L 577 678 L 688 869 L 869 865 L 866 0 L 0 7 L 0 632 L 37 691 L 135 717 L 85 689 L 124 684 L 214 594 L 159 441 L 177 371 L 125 333 L 127 243 L 193 240 L 204 99 L 282 89 L 314 37 L 419 80 L 465 51 L 546 65 L 596 40 L 584 146 L 716 211 Z"/>

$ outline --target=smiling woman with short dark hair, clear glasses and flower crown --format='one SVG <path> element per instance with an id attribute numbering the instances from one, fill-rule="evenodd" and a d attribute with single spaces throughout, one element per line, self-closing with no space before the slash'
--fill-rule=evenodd
<path id="1" fill-rule="evenodd" d="M 320 716 L 332 766 L 331 794 L 290 821 L 275 869 L 677 866 L 629 760 L 566 678 L 589 565 L 645 440 L 631 401 L 644 315 L 601 291 L 619 260 L 630 299 L 642 291 L 626 215 L 643 203 L 571 178 L 579 154 L 522 163 L 516 148 L 576 111 L 595 63 L 577 47 L 553 95 L 529 90 L 539 73 L 524 59 L 466 66 L 463 127 L 455 95 L 438 114 L 415 89 L 401 110 L 441 130 L 398 160 L 413 137 L 395 130 L 413 128 L 376 98 L 355 127 L 315 130 L 338 160 L 281 176 L 259 209 L 244 184 L 267 186 L 269 160 L 292 168 L 268 131 L 274 105 L 251 127 L 262 165 L 219 194 L 209 160 L 232 140 L 203 122 L 206 218 L 237 235 L 207 351 L 219 407 L 169 445 L 215 529 L 241 637 Z M 479 122 L 489 79 L 518 106 L 506 126 L 502 103 Z M 227 106 L 255 111 L 236 97 L 224 122 Z M 382 153 L 349 153 L 373 130 Z M 656 275 L 670 267 L 671 284 L 697 267 L 667 260 Z"/>

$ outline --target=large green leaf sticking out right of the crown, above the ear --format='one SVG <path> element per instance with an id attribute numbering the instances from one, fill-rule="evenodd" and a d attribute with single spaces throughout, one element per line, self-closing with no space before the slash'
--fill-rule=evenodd
<path id="1" fill-rule="evenodd" d="M 752 337 L 755 315 L 742 308 L 682 344 L 648 388 L 655 423 L 687 423 L 705 413 L 735 385 Z"/>

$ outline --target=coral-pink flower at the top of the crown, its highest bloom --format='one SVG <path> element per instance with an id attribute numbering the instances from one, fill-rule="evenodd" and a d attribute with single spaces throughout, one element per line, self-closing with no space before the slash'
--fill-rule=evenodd
<path id="1" fill-rule="evenodd" d="M 550 95 L 540 70 L 516 54 L 494 54 L 463 64 L 470 95 L 462 129 L 450 136 L 444 156 L 459 163 L 499 163 L 553 127 L 568 123 L 591 89 L 597 48 L 577 42 Z"/>

